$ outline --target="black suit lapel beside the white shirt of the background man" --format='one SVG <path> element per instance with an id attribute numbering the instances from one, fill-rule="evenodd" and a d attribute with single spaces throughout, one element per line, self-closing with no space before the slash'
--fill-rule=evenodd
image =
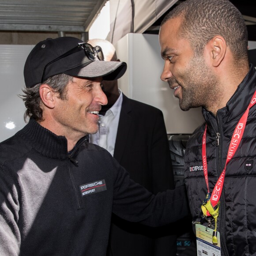
<path id="1" fill-rule="evenodd" d="M 119 124 L 117 128 L 117 139 L 115 143 L 114 158 L 121 161 L 124 154 L 124 148 L 128 139 L 128 132 L 132 123 L 129 113 L 132 111 L 129 99 L 123 94 L 122 108 L 120 112 Z"/>

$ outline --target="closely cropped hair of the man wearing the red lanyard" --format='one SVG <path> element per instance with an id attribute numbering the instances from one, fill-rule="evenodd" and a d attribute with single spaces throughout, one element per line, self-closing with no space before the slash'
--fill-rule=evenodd
<path id="1" fill-rule="evenodd" d="M 221 35 L 234 60 L 248 61 L 248 32 L 240 11 L 229 0 L 186 0 L 170 11 L 169 19 L 181 17 L 179 34 L 187 38 L 196 54 L 216 35 Z"/>

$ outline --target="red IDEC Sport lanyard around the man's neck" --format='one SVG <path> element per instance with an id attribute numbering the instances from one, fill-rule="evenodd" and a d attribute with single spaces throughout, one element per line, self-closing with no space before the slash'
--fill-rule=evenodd
<path id="1" fill-rule="evenodd" d="M 230 162 L 230 159 L 233 157 L 233 155 L 235 154 L 235 152 L 237 151 L 237 147 L 239 146 L 244 130 L 245 130 L 245 125 L 247 122 L 247 118 L 248 118 L 248 113 L 249 113 L 249 109 L 256 104 L 256 91 L 254 92 L 254 95 L 251 99 L 250 104 L 248 105 L 248 108 L 246 109 L 245 113 L 243 114 L 243 116 L 241 117 L 241 119 L 239 120 L 234 132 L 233 132 L 233 136 L 230 142 L 230 147 L 228 150 L 228 154 L 227 154 L 227 159 L 226 159 L 226 165 L 220 175 L 220 177 L 218 178 L 217 183 L 215 184 L 215 187 L 213 189 L 213 192 L 211 194 L 211 205 L 212 207 L 215 207 L 220 199 L 220 195 L 222 192 L 222 188 L 223 188 L 223 184 L 224 184 L 224 178 L 225 178 L 225 172 L 226 172 L 226 166 L 227 164 Z M 205 182 L 207 184 L 207 190 L 209 193 L 209 184 L 208 184 L 208 172 L 207 172 L 207 159 L 206 159 L 206 130 L 207 130 L 207 125 L 205 125 L 205 130 L 203 133 L 203 145 L 202 145 L 202 157 L 203 157 L 203 173 L 204 173 L 204 178 L 205 178 Z"/>

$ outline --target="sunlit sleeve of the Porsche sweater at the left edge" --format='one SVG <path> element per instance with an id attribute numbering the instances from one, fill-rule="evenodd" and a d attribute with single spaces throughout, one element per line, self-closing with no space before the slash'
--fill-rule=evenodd
<path id="1" fill-rule="evenodd" d="M 18 191 L 11 177 L 0 169 L 0 255 L 19 255 L 18 221 Z"/>

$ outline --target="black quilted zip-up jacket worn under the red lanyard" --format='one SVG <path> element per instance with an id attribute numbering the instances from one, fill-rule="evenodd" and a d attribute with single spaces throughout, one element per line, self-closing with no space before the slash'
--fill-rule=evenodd
<path id="1" fill-rule="evenodd" d="M 223 93 L 225 93 L 223 88 Z M 256 90 L 256 70 L 252 65 L 226 107 L 216 118 L 203 109 L 207 123 L 206 154 L 209 190 L 213 188 L 225 163 L 233 131 Z M 196 129 L 187 143 L 185 182 L 193 221 L 202 218 L 201 204 L 207 186 L 203 175 L 202 138 L 205 124 Z M 256 105 L 248 114 L 244 135 L 237 152 L 226 167 L 220 199 L 218 228 L 221 255 L 256 255 Z M 214 224 L 214 223 L 213 223 Z M 206 225 L 206 223 L 204 224 Z"/>

